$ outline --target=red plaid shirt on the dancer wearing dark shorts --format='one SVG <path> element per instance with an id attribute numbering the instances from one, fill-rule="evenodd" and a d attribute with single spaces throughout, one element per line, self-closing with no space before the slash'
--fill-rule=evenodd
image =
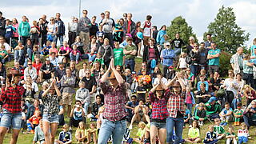
<path id="1" fill-rule="evenodd" d="M 152 119 L 166 119 L 168 117 L 168 111 L 166 108 L 166 102 L 170 96 L 170 90 L 165 90 L 161 99 L 156 98 L 155 94 L 150 91 L 149 97 L 150 102 L 152 103 Z"/>

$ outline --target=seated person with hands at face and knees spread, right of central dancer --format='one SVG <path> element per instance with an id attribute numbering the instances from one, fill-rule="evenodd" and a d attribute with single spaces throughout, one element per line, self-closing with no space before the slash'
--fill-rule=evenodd
<path id="1" fill-rule="evenodd" d="M 133 128 L 133 123 L 135 121 L 150 123 L 150 117 L 148 113 L 149 113 L 149 108 L 146 105 L 144 105 L 143 100 L 140 99 L 138 102 L 138 106 L 136 106 L 134 109 L 134 116 L 131 119 L 129 129 Z"/>

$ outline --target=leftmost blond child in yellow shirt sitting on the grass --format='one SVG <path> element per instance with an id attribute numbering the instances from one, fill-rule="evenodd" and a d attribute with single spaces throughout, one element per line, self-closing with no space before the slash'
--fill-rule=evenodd
<path id="1" fill-rule="evenodd" d="M 88 138 L 87 136 L 88 134 L 85 122 L 79 122 L 78 129 L 75 131 L 75 138 L 77 139 L 78 143 L 84 144 L 86 142 L 86 138 Z"/>

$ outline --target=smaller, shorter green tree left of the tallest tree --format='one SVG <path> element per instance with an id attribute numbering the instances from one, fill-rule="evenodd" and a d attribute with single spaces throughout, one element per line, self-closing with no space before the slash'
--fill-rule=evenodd
<path id="1" fill-rule="evenodd" d="M 170 23 L 170 26 L 167 27 L 167 35 L 171 39 L 175 38 L 176 33 L 179 33 L 180 37 L 185 43 L 188 43 L 191 36 L 195 38 L 195 42 L 198 42 L 196 34 L 193 33 L 192 27 L 188 26 L 185 18 L 182 18 L 182 16 L 174 18 L 174 20 Z"/>

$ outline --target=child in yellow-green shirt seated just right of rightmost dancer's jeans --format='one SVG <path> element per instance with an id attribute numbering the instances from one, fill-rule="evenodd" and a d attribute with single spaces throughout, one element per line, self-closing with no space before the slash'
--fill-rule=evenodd
<path id="1" fill-rule="evenodd" d="M 192 123 L 192 126 L 189 130 L 188 137 L 185 139 L 185 142 L 190 142 L 190 143 L 197 143 L 201 141 L 200 138 L 200 127 L 198 125 L 198 121 L 194 120 Z"/>

